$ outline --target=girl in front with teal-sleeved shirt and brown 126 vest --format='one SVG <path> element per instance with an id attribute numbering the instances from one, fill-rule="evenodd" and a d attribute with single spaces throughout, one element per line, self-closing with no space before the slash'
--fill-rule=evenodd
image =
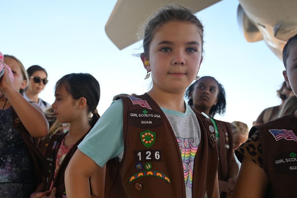
<path id="1" fill-rule="evenodd" d="M 213 125 L 183 99 L 198 79 L 202 24 L 187 8 L 163 6 L 143 48 L 153 86 L 120 96 L 81 142 L 65 174 L 68 198 L 89 197 L 88 177 L 105 165 L 105 197 L 219 197 Z"/>

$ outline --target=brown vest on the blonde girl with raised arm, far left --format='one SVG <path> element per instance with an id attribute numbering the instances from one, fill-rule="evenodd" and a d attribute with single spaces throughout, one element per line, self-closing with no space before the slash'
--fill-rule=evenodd
<path id="1" fill-rule="evenodd" d="M 34 189 L 38 187 L 38 185 L 43 181 L 43 155 L 37 148 L 37 140 L 33 138 L 30 133 L 26 130 L 25 126 L 21 122 L 15 110 L 11 107 L 11 116 L 13 119 L 12 126 L 17 128 L 28 146 L 29 152 L 33 161 L 33 177 L 34 177 Z"/>

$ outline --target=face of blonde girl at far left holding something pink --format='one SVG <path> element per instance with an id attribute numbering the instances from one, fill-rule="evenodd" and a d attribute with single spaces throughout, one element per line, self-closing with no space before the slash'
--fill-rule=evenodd
<path id="1" fill-rule="evenodd" d="M 9 57 L 4 57 L 4 63 L 11 68 L 13 73 L 14 81 L 12 83 L 13 88 L 15 90 L 20 91 L 20 89 L 24 89 L 27 86 L 27 81 L 24 80 L 23 73 L 21 70 L 21 66 L 18 62 Z"/>

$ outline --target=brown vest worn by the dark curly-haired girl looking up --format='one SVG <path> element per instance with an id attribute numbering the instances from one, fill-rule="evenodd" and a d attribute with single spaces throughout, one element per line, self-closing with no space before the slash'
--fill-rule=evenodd
<path id="1" fill-rule="evenodd" d="M 219 167 L 218 167 L 218 178 L 219 180 L 227 181 L 228 172 L 230 169 L 231 161 L 234 160 L 233 155 L 233 134 L 229 122 L 216 120 L 216 125 L 219 130 Z M 235 162 L 236 163 L 236 162 Z M 222 192 L 220 198 L 228 197 L 227 193 Z"/>

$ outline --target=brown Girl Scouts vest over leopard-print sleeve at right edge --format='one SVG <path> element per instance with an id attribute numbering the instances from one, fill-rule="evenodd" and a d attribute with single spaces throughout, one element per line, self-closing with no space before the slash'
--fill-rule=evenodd
<path id="1" fill-rule="evenodd" d="M 249 136 L 257 129 L 262 143 L 263 169 L 270 182 L 266 197 L 297 197 L 297 119 L 293 112 L 253 127 Z"/>

